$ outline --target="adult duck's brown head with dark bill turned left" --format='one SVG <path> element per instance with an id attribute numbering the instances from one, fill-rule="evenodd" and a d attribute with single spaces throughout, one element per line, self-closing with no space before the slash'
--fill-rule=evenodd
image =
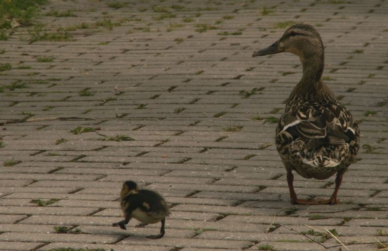
<path id="1" fill-rule="evenodd" d="M 298 55 L 303 62 L 311 56 L 323 59 L 323 43 L 318 31 L 307 24 L 295 24 L 270 47 L 255 51 L 252 57 L 265 56 L 280 52 Z"/>

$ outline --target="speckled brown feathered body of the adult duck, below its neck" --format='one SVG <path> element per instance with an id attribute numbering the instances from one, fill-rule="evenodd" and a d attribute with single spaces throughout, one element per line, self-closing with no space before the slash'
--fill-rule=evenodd
<path id="1" fill-rule="evenodd" d="M 359 148 L 359 130 L 350 112 L 331 93 L 321 100 L 289 100 L 276 128 L 276 147 L 286 167 L 316 179 L 345 172 Z"/>

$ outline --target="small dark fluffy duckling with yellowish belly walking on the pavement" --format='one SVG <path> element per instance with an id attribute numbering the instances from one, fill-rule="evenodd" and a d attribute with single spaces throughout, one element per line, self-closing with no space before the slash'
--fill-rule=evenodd
<path id="1" fill-rule="evenodd" d="M 127 230 L 131 218 L 135 218 L 143 222 L 141 225 L 154 224 L 162 222 L 161 232 L 159 235 L 150 235 L 147 238 L 158 239 L 164 235 L 165 217 L 170 213 L 163 197 L 154 191 L 141 189 L 133 181 L 123 183 L 123 188 L 120 192 L 121 209 L 124 212 L 125 220 L 113 223 L 113 226 L 119 226 L 121 229 Z"/>

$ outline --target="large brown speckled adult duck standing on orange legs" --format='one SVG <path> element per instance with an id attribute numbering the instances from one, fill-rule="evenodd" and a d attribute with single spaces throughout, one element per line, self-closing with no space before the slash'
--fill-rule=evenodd
<path id="1" fill-rule="evenodd" d="M 292 204 L 337 204 L 342 175 L 356 162 L 360 133 L 352 114 L 322 81 L 324 53 L 320 34 L 296 24 L 270 47 L 253 57 L 291 52 L 299 56 L 303 75 L 291 92 L 276 127 L 275 144 L 287 170 Z M 337 173 L 328 200 L 297 199 L 292 171 L 305 178 L 327 179 Z"/>

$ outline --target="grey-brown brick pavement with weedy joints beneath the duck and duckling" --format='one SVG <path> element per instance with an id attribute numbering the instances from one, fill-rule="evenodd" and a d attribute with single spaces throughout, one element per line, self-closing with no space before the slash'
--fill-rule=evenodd
<path id="1" fill-rule="evenodd" d="M 24 120 L 0 126 L 0 250 L 387 248 L 387 15 L 384 0 L 51 1 L 37 21 L 69 41 L 0 41 L 0 122 Z M 290 204 L 271 121 L 301 64 L 251 58 L 293 22 L 320 31 L 325 82 L 361 129 L 338 205 Z M 157 224 L 111 226 L 127 179 L 171 205 L 162 239 L 144 237 Z M 309 198 L 333 183 L 294 185 Z"/>

